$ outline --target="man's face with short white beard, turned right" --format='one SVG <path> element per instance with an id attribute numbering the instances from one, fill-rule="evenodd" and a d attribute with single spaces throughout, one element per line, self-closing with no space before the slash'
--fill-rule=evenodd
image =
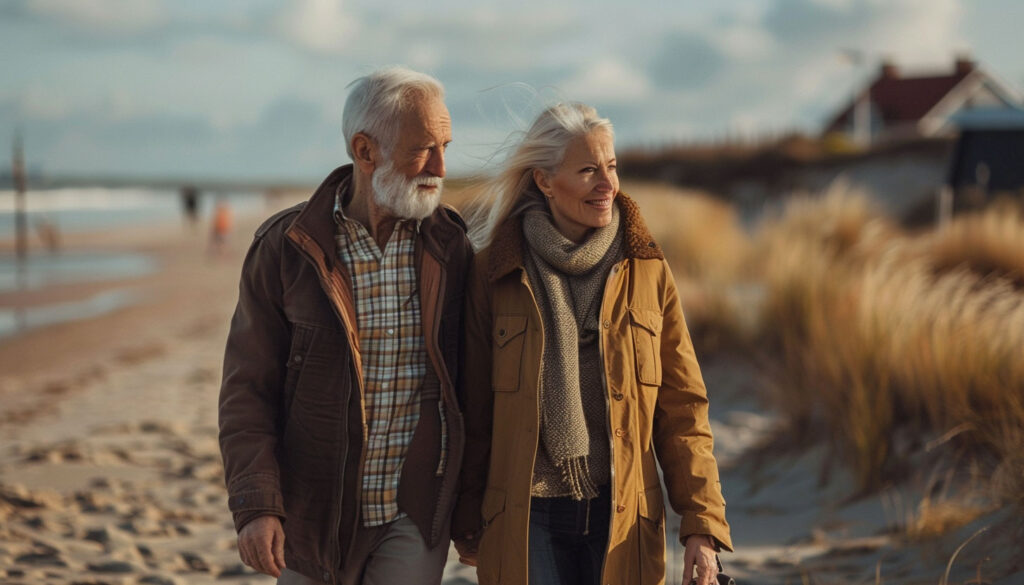
<path id="1" fill-rule="evenodd" d="M 374 200 L 395 216 L 423 219 L 437 207 L 452 119 L 444 102 L 419 99 L 399 121 L 390 157 L 373 174 Z"/>

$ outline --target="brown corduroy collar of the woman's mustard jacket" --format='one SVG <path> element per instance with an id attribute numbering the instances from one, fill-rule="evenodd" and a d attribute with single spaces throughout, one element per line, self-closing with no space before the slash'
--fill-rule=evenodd
<path id="1" fill-rule="evenodd" d="M 615 197 L 623 222 L 623 251 L 627 258 L 664 259 L 665 253 L 654 242 L 647 224 L 640 215 L 640 208 L 628 195 L 620 192 Z M 522 268 L 522 215 L 508 217 L 495 229 L 490 240 L 490 257 L 487 279 L 492 282 L 516 268 Z"/>

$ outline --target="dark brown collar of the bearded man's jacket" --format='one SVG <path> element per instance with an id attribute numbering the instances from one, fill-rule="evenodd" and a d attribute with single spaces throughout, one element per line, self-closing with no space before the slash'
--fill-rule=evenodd
<path id="1" fill-rule="evenodd" d="M 334 268 L 338 259 L 335 239 L 337 223 L 334 218 L 336 198 L 341 199 L 342 205 L 347 204 L 352 198 L 351 164 L 336 168 L 324 179 L 288 228 L 289 232 L 302 232 L 316 243 L 324 252 L 328 269 Z M 424 250 L 441 263 L 444 263 L 447 257 L 445 250 L 458 242 L 465 233 L 452 217 L 453 213 L 444 206 L 438 206 L 432 214 L 420 222 L 420 241 Z"/>

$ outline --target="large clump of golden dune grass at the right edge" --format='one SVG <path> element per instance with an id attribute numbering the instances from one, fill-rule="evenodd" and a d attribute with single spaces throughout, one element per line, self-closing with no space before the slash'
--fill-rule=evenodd
<path id="1" fill-rule="evenodd" d="M 1012 276 L 1024 220 L 986 213 L 911 237 L 839 185 L 791 201 L 759 235 L 777 404 L 799 432 L 830 435 L 864 489 L 907 455 L 893 451 L 901 430 L 956 429 L 949 448 L 996 468 L 1019 450 L 1024 294 Z"/>

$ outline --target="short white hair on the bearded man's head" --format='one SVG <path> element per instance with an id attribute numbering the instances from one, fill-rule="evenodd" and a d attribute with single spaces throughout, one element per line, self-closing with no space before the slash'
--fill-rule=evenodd
<path id="1" fill-rule="evenodd" d="M 350 83 L 341 119 L 348 156 L 352 154 L 352 136 L 362 132 L 377 141 L 385 156 L 398 138 L 401 114 L 417 99 L 444 98 L 444 86 L 433 77 L 403 67 L 375 71 Z"/>

